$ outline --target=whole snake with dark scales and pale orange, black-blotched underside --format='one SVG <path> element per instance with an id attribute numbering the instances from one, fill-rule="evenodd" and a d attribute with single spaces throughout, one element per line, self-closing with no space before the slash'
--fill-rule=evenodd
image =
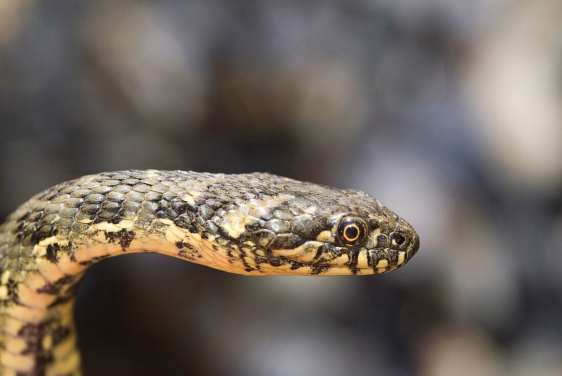
<path id="1" fill-rule="evenodd" d="M 370 194 L 269 173 L 125 170 L 55 185 L 0 225 L 0 375 L 81 375 L 73 319 L 88 267 L 134 252 L 244 275 L 362 275 L 418 251 Z"/>

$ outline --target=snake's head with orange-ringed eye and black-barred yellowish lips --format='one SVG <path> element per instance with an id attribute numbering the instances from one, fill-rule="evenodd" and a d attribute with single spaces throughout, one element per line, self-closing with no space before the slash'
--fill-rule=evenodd
<path id="1" fill-rule="evenodd" d="M 264 194 L 240 238 L 268 251 L 261 260 L 280 274 L 385 273 L 418 251 L 412 226 L 369 194 L 278 179 L 282 189 Z"/>

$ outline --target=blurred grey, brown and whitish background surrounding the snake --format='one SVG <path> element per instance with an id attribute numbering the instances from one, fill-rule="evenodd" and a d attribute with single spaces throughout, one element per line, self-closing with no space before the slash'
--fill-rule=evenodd
<path id="1" fill-rule="evenodd" d="M 422 246 L 374 277 L 95 265 L 86 375 L 559 375 L 562 3 L 0 1 L 0 215 L 119 169 L 362 189 Z"/>

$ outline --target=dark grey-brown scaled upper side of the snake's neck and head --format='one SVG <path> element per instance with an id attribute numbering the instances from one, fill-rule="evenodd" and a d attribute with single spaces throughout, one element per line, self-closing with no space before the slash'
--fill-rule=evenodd
<path id="1" fill-rule="evenodd" d="M 38 194 L 8 218 L 0 239 L 0 267 L 15 268 L 15 259 L 29 257 L 35 244 L 52 236 L 87 243 L 90 225 L 105 222 L 133 220 L 134 226 L 149 230 L 156 220 L 169 219 L 181 228 L 194 228 L 203 238 L 220 235 L 230 242 L 246 239 L 289 249 L 333 232 L 345 214 L 361 215 L 379 226 L 377 242 L 370 243 L 389 246 L 387 237 L 397 229 L 398 216 L 360 191 L 265 173 L 131 170 L 89 175 Z M 415 238 L 407 223 L 401 231 Z M 49 257 L 56 258 L 58 252 L 71 249 L 60 247 Z"/>

